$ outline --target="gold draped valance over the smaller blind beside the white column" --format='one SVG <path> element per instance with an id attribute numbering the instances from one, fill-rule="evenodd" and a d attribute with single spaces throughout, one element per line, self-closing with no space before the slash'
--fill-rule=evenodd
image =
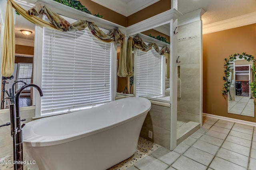
<path id="1" fill-rule="evenodd" d="M 132 59 L 132 51 L 134 50 L 134 47 L 145 52 L 149 51 L 150 49 L 152 49 L 152 47 L 154 47 L 157 53 L 159 53 L 160 55 L 166 56 L 167 57 L 167 70 L 166 70 L 167 78 L 170 78 L 170 49 L 164 46 L 160 50 L 156 43 L 148 43 L 148 45 L 146 45 L 141 39 L 141 37 L 136 35 L 133 38 L 129 37 L 128 39 L 127 56 L 126 56 L 128 61 Z M 127 68 L 128 67 L 132 68 L 132 65 L 130 63 L 127 63 Z M 133 72 L 132 72 L 132 75 L 133 75 Z"/>

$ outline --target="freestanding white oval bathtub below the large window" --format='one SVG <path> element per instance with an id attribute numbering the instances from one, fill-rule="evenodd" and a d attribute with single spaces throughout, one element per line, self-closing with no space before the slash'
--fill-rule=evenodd
<path id="1" fill-rule="evenodd" d="M 31 170 L 106 170 L 134 154 L 151 103 L 124 98 L 26 123 L 23 145 Z"/>

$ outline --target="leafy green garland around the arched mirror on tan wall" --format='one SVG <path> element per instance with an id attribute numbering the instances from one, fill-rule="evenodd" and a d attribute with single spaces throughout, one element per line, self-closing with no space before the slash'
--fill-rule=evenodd
<path id="1" fill-rule="evenodd" d="M 223 80 L 225 81 L 225 83 L 224 83 L 224 88 L 221 92 L 224 96 L 228 96 L 228 92 L 229 92 L 229 88 L 230 88 L 230 84 L 231 84 L 230 80 L 228 79 L 228 77 L 230 76 L 230 66 L 229 65 L 230 65 L 230 62 L 236 60 L 236 57 L 238 57 L 239 59 L 244 58 L 246 61 L 248 61 L 248 62 L 252 61 L 252 63 L 253 63 L 252 64 L 252 72 L 253 72 L 254 81 L 250 83 L 250 87 L 251 87 L 252 96 L 254 97 L 254 99 L 256 99 L 256 82 L 255 82 L 256 81 L 255 80 L 255 78 L 256 78 L 256 66 L 255 66 L 256 60 L 254 59 L 254 57 L 252 55 L 248 55 L 246 53 L 242 53 L 242 55 L 237 53 L 234 55 L 230 55 L 229 59 L 228 58 L 225 59 L 225 64 L 224 64 L 225 76 L 223 76 Z M 254 104 L 255 104 L 255 102 L 254 102 Z"/>

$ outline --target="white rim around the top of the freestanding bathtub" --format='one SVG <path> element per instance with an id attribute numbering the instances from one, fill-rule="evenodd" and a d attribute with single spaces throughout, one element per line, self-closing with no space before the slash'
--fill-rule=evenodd
<path id="1" fill-rule="evenodd" d="M 127 100 L 127 98 L 124 98 L 124 100 L 125 99 Z M 100 133 L 100 132 L 106 131 L 108 129 L 112 129 L 114 127 L 117 127 L 117 126 L 122 125 L 126 122 L 129 122 L 129 121 L 132 121 L 133 119 L 136 119 L 137 117 L 143 116 L 144 114 L 148 113 L 148 111 L 151 109 L 151 102 L 148 99 L 145 100 L 146 98 L 140 98 L 140 100 L 141 99 L 146 102 L 146 106 L 149 106 L 148 109 L 144 110 L 141 113 L 138 113 L 137 115 L 129 117 L 128 119 L 124 119 L 120 122 L 117 122 L 114 125 L 105 126 L 105 127 L 100 128 L 100 129 L 94 129 L 93 131 L 90 131 L 90 132 L 82 131 L 82 132 L 75 133 L 75 134 L 72 134 L 72 135 L 42 136 L 42 135 L 38 135 L 38 134 L 34 133 L 34 131 L 32 130 L 34 125 L 36 123 L 38 123 L 37 120 L 31 121 L 24 127 L 24 130 L 26 130 L 26 132 L 28 134 L 26 134 L 26 137 L 24 137 L 24 135 L 23 135 L 23 138 L 24 138 L 23 139 L 23 145 L 26 146 L 26 147 L 44 147 L 44 146 L 51 146 L 51 145 L 59 145 L 59 144 L 62 144 L 62 143 L 67 143 L 67 142 L 70 142 L 70 141 L 81 139 L 83 137 L 94 135 L 96 133 Z M 115 102 L 115 101 L 112 101 L 112 102 Z M 72 112 L 72 113 L 76 113 L 76 112 Z M 70 113 L 70 114 L 72 114 L 72 113 Z M 61 115 L 56 115 L 56 117 L 58 117 L 58 116 L 61 116 Z M 45 117 L 45 118 L 42 118 L 42 119 L 45 120 L 45 119 L 48 119 L 48 118 L 50 118 L 50 117 Z M 34 139 L 34 140 L 30 140 L 30 139 Z"/>

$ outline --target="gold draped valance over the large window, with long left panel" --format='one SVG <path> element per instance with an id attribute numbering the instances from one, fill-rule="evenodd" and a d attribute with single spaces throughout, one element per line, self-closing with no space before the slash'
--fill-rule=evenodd
<path id="1" fill-rule="evenodd" d="M 56 29 L 60 31 L 80 31 L 88 27 L 91 33 L 101 41 L 106 43 L 121 43 L 120 51 L 122 52 L 122 55 L 126 54 L 126 45 L 123 45 L 125 44 L 125 36 L 119 29 L 112 29 L 106 34 L 101 31 L 95 23 L 86 20 L 78 20 L 70 24 L 68 21 L 53 12 L 45 5 L 38 4 L 30 10 L 26 11 L 24 8 L 16 4 L 14 0 L 7 0 L 6 16 L 4 21 L 4 40 L 2 47 L 2 76 L 11 76 L 14 71 L 15 33 L 12 8 L 19 12 L 28 21 L 43 27 L 48 27 L 50 29 Z M 46 15 L 52 23 L 38 18 L 37 16 L 40 14 Z M 121 56 L 121 53 L 120 57 L 123 57 Z M 126 67 L 126 65 L 124 65 L 124 67 Z"/>

